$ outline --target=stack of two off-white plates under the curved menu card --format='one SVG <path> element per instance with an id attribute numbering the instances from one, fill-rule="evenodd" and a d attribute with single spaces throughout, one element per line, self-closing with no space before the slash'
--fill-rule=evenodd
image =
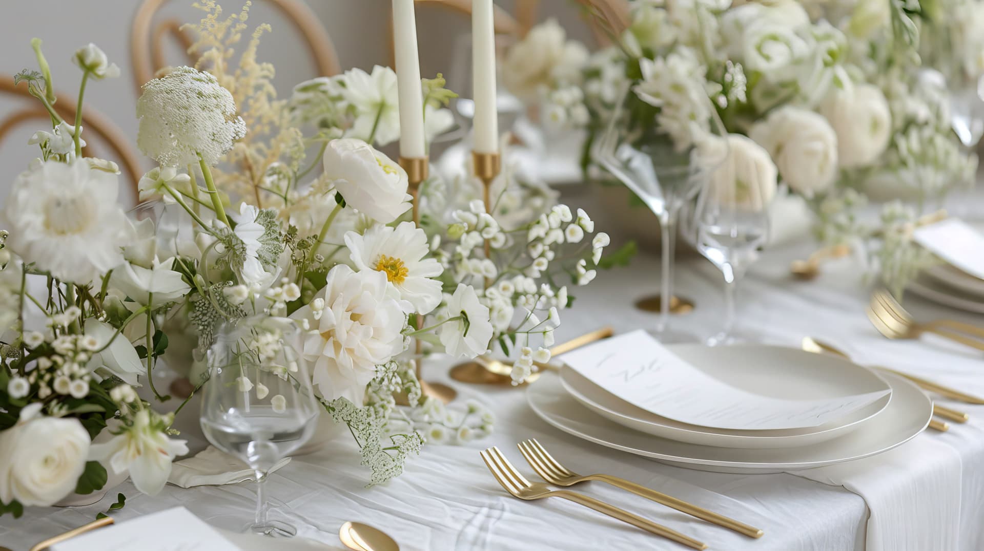
<path id="1" fill-rule="evenodd" d="M 922 432 L 933 403 L 908 381 L 849 361 L 760 344 L 668 348 L 692 366 L 740 390 L 771 398 L 826 399 L 891 389 L 826 424 L 798 429 L 735 430 L 661 417 L 608 393 L 574 369 L 545 373 L 526 398 L 551 425 L 584 440 L 690 468 L 778 472 L 861 459 Z"/>

